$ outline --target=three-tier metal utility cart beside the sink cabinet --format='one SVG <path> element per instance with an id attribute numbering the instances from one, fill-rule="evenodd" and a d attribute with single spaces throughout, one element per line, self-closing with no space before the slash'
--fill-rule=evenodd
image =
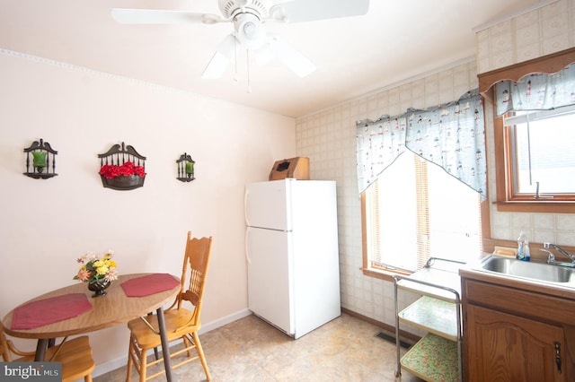
<path id="1" fill-rule="evenodd" d="M 410 276 L 394 275 L 395 342 L 397 369 L 402 368 L 426 381 L 462 381 L 461 282 L 459 266 L 464 263 L 429 258 L 420 271 Z M 410 291 L 420 298 L 402 311 L 398 291 Z M 400 323 L 428 332 L 401 357 Z"/>

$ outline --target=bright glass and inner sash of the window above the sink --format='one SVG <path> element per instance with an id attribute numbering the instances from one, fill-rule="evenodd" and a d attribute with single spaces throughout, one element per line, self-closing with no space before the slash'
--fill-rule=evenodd
<path id="1" fill-rule="evenodd" d="M 575 196 L 575 108 L 517 112 L 509 137 L 509 199 L 569 201 Z"/>

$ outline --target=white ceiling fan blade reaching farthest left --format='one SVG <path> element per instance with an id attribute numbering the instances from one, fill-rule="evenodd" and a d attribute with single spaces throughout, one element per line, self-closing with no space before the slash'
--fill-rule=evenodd
<path id="1" fill-rule="evenodd" d="M 209 13 L 120 8 L 113 8 L 111 17 L 122 24 L 190 24 L 214 23 L 221 20 L 217 14 Z"/>

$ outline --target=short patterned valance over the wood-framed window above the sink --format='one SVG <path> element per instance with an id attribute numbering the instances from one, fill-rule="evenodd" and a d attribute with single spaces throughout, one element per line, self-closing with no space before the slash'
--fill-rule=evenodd
<path id="1" fill-rule="evenodd" d="M 528 74 L 495 84 L 497 115 L 514 110 L 550 110 L 575 104 L 575 64 L 556 74 Z"/>

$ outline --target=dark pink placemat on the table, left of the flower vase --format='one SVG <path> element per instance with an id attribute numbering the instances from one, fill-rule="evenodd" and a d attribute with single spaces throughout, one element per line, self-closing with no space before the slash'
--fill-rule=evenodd
<path id="1" fill-rule="evenodd" d="M 37 300 L 15 308 L 12 329 L 33 329 L 53 324 L 68 318 L 80 316 L 92 308 L 84 293 L 70 293 L 62 296 Z"/>

